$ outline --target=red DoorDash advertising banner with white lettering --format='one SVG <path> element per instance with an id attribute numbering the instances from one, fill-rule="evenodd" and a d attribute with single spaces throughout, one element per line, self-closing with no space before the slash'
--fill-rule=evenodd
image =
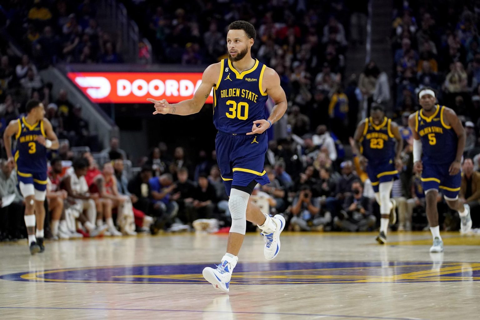
<path id="1" fill-rule="evenodd" d="M 68 72 L 67 76 L 97 103 L 177 103 L 193 97 L 201 72 Z M 213 103 L 213 90 L 205 103 Z"/>

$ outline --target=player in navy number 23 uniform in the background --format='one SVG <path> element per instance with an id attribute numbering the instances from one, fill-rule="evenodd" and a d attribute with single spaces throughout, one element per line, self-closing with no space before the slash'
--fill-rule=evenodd
<path id="1" fill-rule="evenodd" d="M 368 178 L 372 182 L 375 199 L 380 205 L 380 233 L 376 240 L 387 241 L 388 224 L 396 221 L 396 203 L 390 199 L 393 180 L 398 178 L 396 164 L 401 163 L 403 140 L 398 126 L 385 117 L 384 107 L 373 103 L 371 117 L 361 121 L 355 131 L 355 147 L 361 160 L 367 162 Z M 391 219 L 390 219 L 391 217 Z"/>

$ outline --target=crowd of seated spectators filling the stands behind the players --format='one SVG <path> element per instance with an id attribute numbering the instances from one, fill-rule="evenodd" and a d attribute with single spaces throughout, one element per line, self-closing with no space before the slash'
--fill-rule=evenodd
<path id="1" fill-rule="evenodd" d="M 17 1 L 7 2 L 15 4 L 5 6 L 7 28 L 13 35 L 22 34 L 17 39 L 22 39 L 26 54 L 15 58 L 5 45 L 0 47 L 1 128 L 22 114 L 28 98 L 36 98 L 44 103 L 46 117 L 64 139 L 59 151 L 50 155 L 49 236 L 156 234 L 228 225 L 228 197 L 215 151 L 201 150 L 195 156 L 182 147 L 171 152 L 160 142 L 133 169 L 132 155 L 120 148 L 119 139 L 112 138 L 108 148 L 100 151 L 66 92 L 52 101 L 51 85 L 41 82 L 37 68 L 59 61 L 121 61 L 111 37 L 97 27 L 94 1 L 35 0 L 20 6 Z M 188 9 L 172 1 L 160 7 L 150 1 L 123 2 L 150 38 L 159 62 L 216 62 L 225 57 L 223 31 L 229 21 L 245 19 L 255 25 L 258 34 L 252 55 L 278 72 L 289 108 L 287 137 L 272 139 L 265 155 L 271 182 L 257 186 L 252 199 L 264 213 L 284 214 L 289 229 L 377 228 L 379 208 L 365 164 L 349 153 L 353 142 L 348 138 L 364 102 L 387 108 L 393 102 L 391 111 L 405 140 L 403 166 L 397 167 L 400 179 L 392 191 L 398 204 L 398 223 L 393 227 L 427 227 L 419 174 L 412 172 L 412 138 L 406 121 L 417 109 L 416 93 L 424 85 L 437 89 L 440 103 L 454 108 L 465 122 L 466 157 L 471 160 L 463 164 L 461 196 L 472 206 L 474 226 L 478 226 L 480 156 L 475 155 L 480 152 L 476 130 L 480 127 L 480 49 L 475 43 L 478 47 L 480 39 L 473 8 L 462 12 L 457 7 L 443 8 L 443 12 L 417 4 L 410 8 L 408 1 L 401 1 L 392 27 L 396 78 L 390 90 L 387 73 L 374 62 L 367 64 L 358 80 L 345 77 L 348 44 L 364 41 L 357 30 L 364 24 L 367 1 L 316 1 L 307 9 L 303 1 L 272 0 L 255 11 L 248 3 L 222 1 L 221 10 L 216 7 L 215 12 L 211 1 L 195 2 L 199 7 Z M 446 36 L 440 36 L 439 30 Z M 85 59 L 88 51 L 91 58 Z M 71 146 L 89 148 L 79 151 Z M 0 196 L 15 195 L 10 205 L 0 209 L 0 239 L 23 237 L 24 230 L 18 228 L 23 225 L 22 198 L 15 187 L 14 168 L 6 161 L 0 165 Z M 448 210 L 441 197 L 438 206 L 444 229 L 457 230 L 456 213 Z M 199 219 L 205 219 L 204 224 L 196 223 Z M 254 225 L 248 228 L 255 230 Z"/>

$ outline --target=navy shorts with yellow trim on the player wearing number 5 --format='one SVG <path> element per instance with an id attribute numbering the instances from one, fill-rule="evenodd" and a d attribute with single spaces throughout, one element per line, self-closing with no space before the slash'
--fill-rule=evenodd
<path id="1" fill-rule="evenodd" d="M 455 200 L 460 191 L 460 184 L 462 182 L 461 172 L 455 176 L 450 176 L 448 169 L 450 163 L 446 164 L 428 164 L 423 163 L 423 171 L 421 173 L 421 183 L 423 190 L 430 189 L 441 190 L 444 196 L 448 199 Z"/>

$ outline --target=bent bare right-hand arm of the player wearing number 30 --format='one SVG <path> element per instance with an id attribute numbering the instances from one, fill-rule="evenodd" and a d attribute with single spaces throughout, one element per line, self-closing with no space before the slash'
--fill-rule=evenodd
<path id="1" fill-rule="evenodd" d="M 285 91 L 280 86 L 280 77 L 272 68 L 266 68 L 264 72 L 263 84 L 265 85 L 265 91 L 273 101 L 275 106 L 272 109 L 272 113 L 267 120 L 258 119 L 253 121 L 252 132 L 247 134 L 260 134 L 265 130 L 270 128 L 270 123 L 274 124 L 276 121 L 280 120 L 287 111 L 287 96 Z M 258 124 L 258 126 L 257 126 Z"/>

